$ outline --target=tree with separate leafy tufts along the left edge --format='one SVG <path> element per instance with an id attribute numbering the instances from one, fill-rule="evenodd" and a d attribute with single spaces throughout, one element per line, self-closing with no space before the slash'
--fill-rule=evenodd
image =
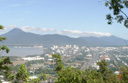
<path id="1" fill-rule="evenodd" d="M 2 25 L 0 25 L 0 29 L 4 29 L 4 27 Z M 1 36 L 0 37 L 0 41 L 4 41 L 6 40 L 5 37 Z M 10 61 L 9 57 L 1 57 L 2 52 L 6 51 L 6 53 L 8 53 L 10 50 L 8 47 L 6 47 L 5 45 L 1 45 L 0 46 L 0 72 L 4 75 L 5 80 L 13 80 L 14 76 L 11 73 L 11 67 L 10 65 L 12 64 L 12 62 Z"/>

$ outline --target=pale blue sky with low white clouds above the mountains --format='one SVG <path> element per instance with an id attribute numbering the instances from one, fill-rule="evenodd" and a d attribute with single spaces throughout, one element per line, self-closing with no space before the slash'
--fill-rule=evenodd
<path id="1" fill-rule="evenodd" d="M 109 13 L 103 0 L 0 0 L 0 25 L 5 27 L 0 33 L 20 28 L 42 35 L 115 35 L 128 39 L 123 24 L 107 24 Z"/>

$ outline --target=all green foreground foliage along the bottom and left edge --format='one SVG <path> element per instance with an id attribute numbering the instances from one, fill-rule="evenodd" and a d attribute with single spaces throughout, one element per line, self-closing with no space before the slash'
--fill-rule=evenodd
<path id="1" fill-rule="evenodd" d="M 3 26 L 0 25 L 0 29 Z M 5 40 L 5 37 L 0 37 L 0 41 Z M 5 50 L 7 53 L 9 49 L 2 45 L 0 51 Z M 56 83 L 128 83 L 128 67 L 120 69 L 120 78 L 107 68 L 107 62 L 102 60 L 98 62 L 99 70 L 86 69 L 85 71 L 79 70 L 68 66 L 64 68 L 61 60 L 61 55 L 54 54 L 55 71 L 57 73 Z M 20 65 L 18 72 L 11 71 L 11 61 L 9 57 L 1 57 L 0 59 L 0 73 L 4 75 L 5 80 L 12 83 L 40 83 L 41 79 L 46 80 L 46 75 L 41 74 L 41 77 L 29 80 L 30 74 L 28 73 L 25 65 Z"/>

